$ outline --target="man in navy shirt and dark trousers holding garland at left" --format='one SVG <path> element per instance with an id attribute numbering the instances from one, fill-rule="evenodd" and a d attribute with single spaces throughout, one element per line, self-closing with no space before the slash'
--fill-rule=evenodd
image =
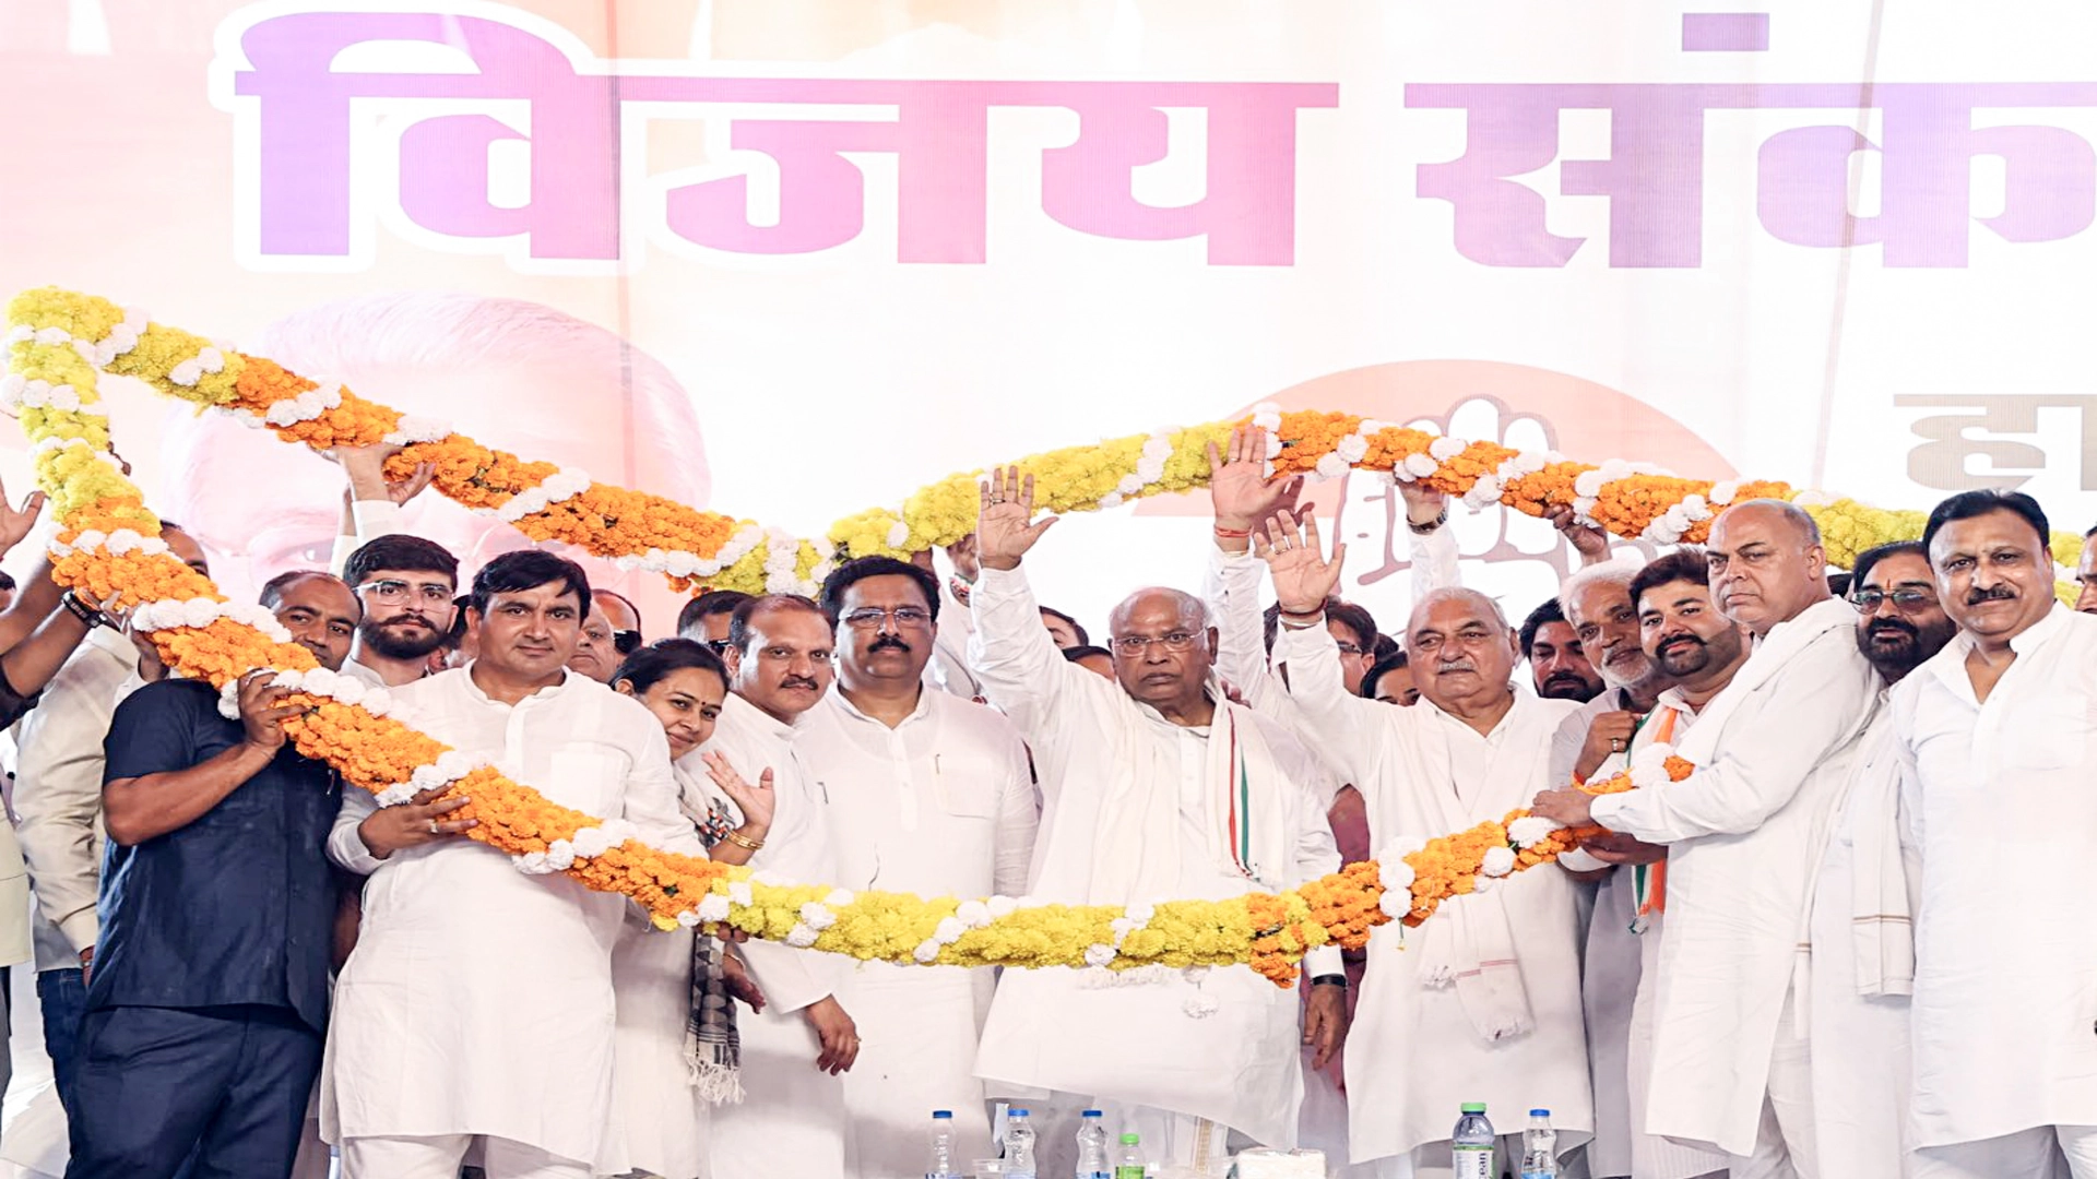
<path id="1" fill-rule="evenodd" d="M 306 575 L 271 606 L 340 665 L 348 585 Z M 250 673 L 226 720 L 210 684 L 164 680 L 115 711 L 67 1179 L 291 1169 L 327 1026 L 342 785 L 285 741 L 285 694 Z"/>

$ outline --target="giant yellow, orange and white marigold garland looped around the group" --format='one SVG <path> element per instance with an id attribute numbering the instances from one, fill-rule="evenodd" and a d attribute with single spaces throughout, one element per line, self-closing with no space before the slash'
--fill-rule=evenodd
<path id="1" fill-rule="evenodd" d="M 1382 864 L 1353 864 L 1294 892 L 1128 908 L 851 894 L 650 848 L 623 820 L 554 806 L 417 732 L 407 724 L 413 717 L 394 715 L 401 709 L 382 688 L 317 667 L 260 606 L 226 602 L 208 577 L 176 560 L 159 539 L 159 520 L 109 453 L 96 376 L 138 378 L 315 449 L 398 445 L 392 459 L 398 474 L 432 464 L 438 491 L 459 503 L 491 510 L 535 539 L 656 569 L 679 585 L 807 592 L 835 556 L 952 543 L 973 529 L 975 474 L 925 487 L 900 510 L 849 516 L 830 529 L 828 541 L 799 541 L 482 447 L 442 424 L 407 417 L 101 298 L 55 287 L 25 292 L 8 304 L 8 325 L 0 399 L 15 407 L 36 445 L 38 480 L 61 524 L 52 543 L 61 583 L 132 608 L 134 625 L 153 636 L 170 667 L 229 696 L 247 669 L 275 669 L 310 705 L 287 722 L 298 749 L 327 759 L 382 803 L 449 787 L 472 799 L 455 812 L 480 820 L 472 837 L 510 854 L 520 871 L 564 873 L 587 887 L 631 896 L 663 927 L 726 923 L 757 938 L 891 963 L 1107 969 L 1246 963 L 1290 986 L 1304 950 L 1327 942 L 1359 948 L 1388 921 L 1418 925 L 1445 900 L 1491 889 L 1510 873 L 1554 860 L 1581 837 L 1512 812 L 1455 835 L 1401 841 Z M 1254 424 L 1269 430 L 1277 474 L 1332 478 L 1382 470 L 1472 506 L 1541 514 L 1564 503 L 1617 535 L 1665 543 L 1703 539 L 1711 516 L 1736 499 L 1789 495 L 1780 483 L 1713 485 L 1623 462 L 1587 466 L 1346 413 L 1262 409 Z M 1204 485 L 1206 449 L 1231 428 L 1214 422 L 1069 447 L 1021 459 L 1019 468 L 1036 476 L 1036 501 L 1053 512 L 1114 508 Z M 1818 512 L 1829 520 L 1845 503 Z M 2057 552 L 2076 545 L 2070 539 Z M 1657 747 L 1625 774 L 1583 789 L 1613 793 L 1688 772 L 1686 762 Z"/>

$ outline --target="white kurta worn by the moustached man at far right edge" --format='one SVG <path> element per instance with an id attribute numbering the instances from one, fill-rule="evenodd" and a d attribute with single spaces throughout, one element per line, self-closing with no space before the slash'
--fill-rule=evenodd
<path id="1" fill-rule="evenodd" d="M 2055 606 L 1973 696 L 1959 636 L 1894 688 L 1923 860 L 1915 1141 L 2097 1124 L 2097 617 Z"/>

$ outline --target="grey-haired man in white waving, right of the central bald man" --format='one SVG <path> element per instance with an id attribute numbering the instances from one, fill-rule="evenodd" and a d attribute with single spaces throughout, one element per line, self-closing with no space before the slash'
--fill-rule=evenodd
<path id="1" fill-rule="evenodd" d="M 1491 598 L 1453 587 L 1420 598 L 1405 629 L 1420 705 L 1392 709 L 1346 690 L 1325 627 L 1342 554 L 1319 554 L 1317 522 L 1277 514 L 1258 552 L 1281 602 L 1275 661 L 1290 665 L 1304 728 L 1367 801 L 1371 852 L 1390 860 L 1401 839 L 1499 818 L 1550 783 L 1552 732 L 1577 705 L 1514 692 L 1516 636 Z M 1566 873 L 1499 879 L 1418 929 L 1376 929 L 1355 1017 L 1359 1043 L 1382 1049 L 1346 1053 L 1357 1166 L 1447 1175 L 1457 1097 L 1548 1108 L 1560 1152 L 1594 1133 Z M 1512 1131 L 1512 1116 L 1501 1124 Z"/>

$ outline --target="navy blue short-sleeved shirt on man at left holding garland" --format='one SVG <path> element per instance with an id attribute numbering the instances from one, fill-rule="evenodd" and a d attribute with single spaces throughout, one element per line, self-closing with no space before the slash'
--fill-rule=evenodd
<path id="1" fill-rule="evenodd" d="M 117 707 L 103 780 L 189 770 L 239 743 L 210 684 L 161 680 Z M 111 841 L 88 1009 L 258 1003 L 325 1028 L 340 801 L 338 774 L 285 743 L 189 827 Z"/>

